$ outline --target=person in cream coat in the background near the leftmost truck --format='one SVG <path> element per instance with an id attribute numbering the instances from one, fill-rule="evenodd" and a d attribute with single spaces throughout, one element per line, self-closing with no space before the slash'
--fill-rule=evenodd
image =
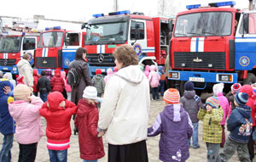
<path id="1" fill-rule="evenodd" d="M 33 70 L 31 67 L 31 64 L 29 64 L 29 55 L 24 54 L 22 56 L 22 59 L 20 59 L 19 63 L 17 64 L 18 70 L 19 70 L 19 75 L 24 76 L 23 82 L 26 84 L 28 87 L 33 86 Z"/>

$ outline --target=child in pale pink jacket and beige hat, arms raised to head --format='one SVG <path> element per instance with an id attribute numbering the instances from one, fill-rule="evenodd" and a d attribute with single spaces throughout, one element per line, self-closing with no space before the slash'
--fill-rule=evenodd
<path id="1" fill-rule="evenodd" d="M 19 162 L 35 161 L 38 141 L 44 135 L 39 115 L 44 102 L 31 94 L 31 87 L 19 84 L 14 90 L 15 101 L 9 103 L 9 114 L 16 122 Z"/>

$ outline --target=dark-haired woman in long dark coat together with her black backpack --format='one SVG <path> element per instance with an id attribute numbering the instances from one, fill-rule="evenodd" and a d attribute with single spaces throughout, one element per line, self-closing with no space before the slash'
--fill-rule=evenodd
<path id="1" fill-rule="evenodd" d="M 85 87 L 92 86 L 90 72 L 87 63 L 85 62 L 86 49 L 79 47 L 75 53 L 75 60 L 68 67 L 68 84 L 72 87 L 71 101 L 78 103 L 79 99 L 83 98 Z M 78 75 L 73 75 L 70 72 L 77 71 Z M 75 80 L 75 81 L 73 81 Z"/>

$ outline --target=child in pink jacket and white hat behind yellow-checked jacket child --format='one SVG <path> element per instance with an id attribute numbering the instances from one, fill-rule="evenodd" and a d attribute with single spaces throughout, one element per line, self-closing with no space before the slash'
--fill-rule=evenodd
<path id="1" fill-rule="evenodd" d="M 221 140 L 221 143 L 220 143 L 220 147 L 224 148 L 225 122 L 226 122 L 226 118 L 229 114 L 230 104 L 229 104 L 228 98 L 224 97 L 224 95 L 223 95 L 224 83 L 215 84 L 212 89 L 213 89 L 213 95 L 218 98 L 219 104 L 220 104 L 221 108 L 224 111 L 223 118 L 220 122 L 220 126 L 222 127 L 222 140 Z"/>

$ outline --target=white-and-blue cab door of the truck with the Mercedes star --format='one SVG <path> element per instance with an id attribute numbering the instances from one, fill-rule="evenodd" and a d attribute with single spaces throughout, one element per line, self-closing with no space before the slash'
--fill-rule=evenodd
<path id="1" fill-rule="evenodd" d="M 145 20 L 131 20 L 128 44 L 134 47 L 139 59 L 147 55 L 147 33 Z"/>

